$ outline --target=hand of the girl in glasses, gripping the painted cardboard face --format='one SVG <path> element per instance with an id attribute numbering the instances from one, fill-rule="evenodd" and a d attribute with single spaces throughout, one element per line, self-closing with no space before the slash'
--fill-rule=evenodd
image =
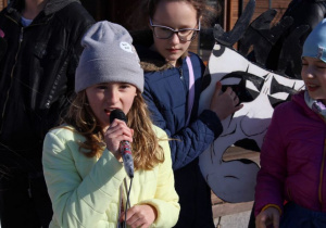
<path id="1" fill-rule="evenodd" d="M 222 84 L 221 81 L 217 81 L 214 94 L 211 100 L 210 110 L 215 112 L 218 118 L 223 121 L 243 106 L 243 104 L 238 104 L 239 98 L 233 91 L 233 89 L 228 87 L 225 92 L 222 92 Z"/>

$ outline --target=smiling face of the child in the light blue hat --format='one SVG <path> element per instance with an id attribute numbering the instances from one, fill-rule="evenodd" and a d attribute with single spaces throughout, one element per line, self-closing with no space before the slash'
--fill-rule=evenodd
<path id="1" fill-rule="evenodd" d="M 309 96 L 326 104 L 326 63 L 315 58 L 302 58 L 301 76 Z"/>

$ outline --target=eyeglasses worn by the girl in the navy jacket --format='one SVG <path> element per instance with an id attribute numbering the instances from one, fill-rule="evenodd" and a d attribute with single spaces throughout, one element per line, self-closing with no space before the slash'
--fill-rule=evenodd
<path id="1" fill-rule="evenodd" d="M 200 31 L 200 22 L 198 22 L 198 28 L 181 28 L 177 30 L 163 25 L 154 25 L 151 18 L 150 25 L 153 28 L 155 37 L 159 39 L 170 39 L 174 34 L 176 34 L 180 40 L 191 41 Z"/>

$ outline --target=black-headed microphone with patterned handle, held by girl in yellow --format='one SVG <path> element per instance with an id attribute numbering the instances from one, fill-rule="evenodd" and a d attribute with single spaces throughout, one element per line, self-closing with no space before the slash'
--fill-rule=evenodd
<path id="1" fill-rule="evenodd" d="M 113 110 L 110 114 L 110 124 L 114 121 L 114 118 L 117 118 L 120 121 L 124 121 L 127 123 L 127 117 L 124 114 L 122 110 Z M 131 154 L 131 145 L 130 142 L 123 140 L 120 142 L 120 153 L 124 161 L 124 167 L 127 173 L 127 175 L 130 178 L 134 178 L 134 159 Z"/>

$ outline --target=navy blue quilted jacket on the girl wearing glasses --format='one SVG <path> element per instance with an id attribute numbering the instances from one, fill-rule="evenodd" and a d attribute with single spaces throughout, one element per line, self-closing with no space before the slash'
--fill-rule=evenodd
<path id="1" fill-rule="evenodd" d="M 155 125 L 164 129 L 170 141 L 175 187 L 180 198 L 180 217 L 176 227 L 214 227 L 211 191 L 198 165 L 198 156 L 223 130 L 217 115 L 198 104 L 204 65 L 189 53 L 195 73 L 195 101 L 190 124 L 188 116 L 189 71 L 186 59 L 180 67 L 171 67 L 156 52 L 136 47 L 145 69 L 145 91 Z"/>

